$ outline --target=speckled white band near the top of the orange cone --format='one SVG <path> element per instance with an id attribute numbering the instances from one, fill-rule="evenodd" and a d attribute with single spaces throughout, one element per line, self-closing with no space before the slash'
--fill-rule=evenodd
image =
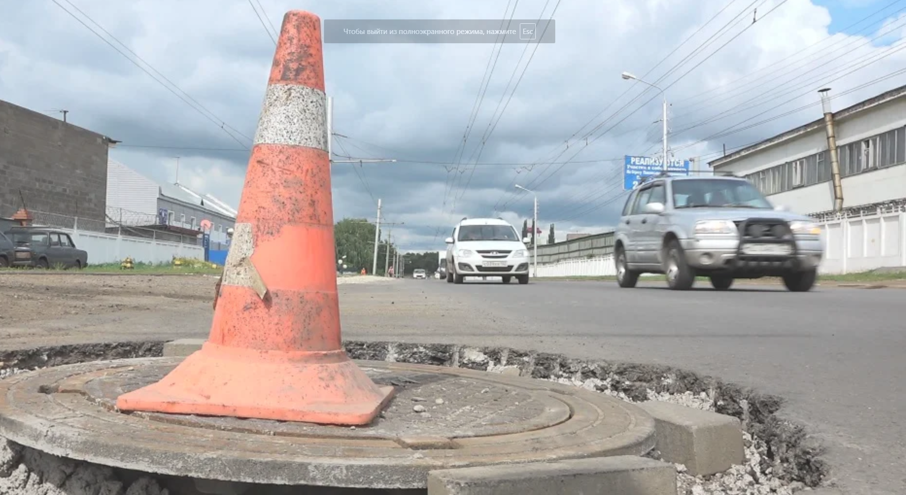
<path id="1" fill-rule="evenodd" d="M 287 144 L 327 150 L 327 97 L 291 84 L 270 84 L 255 131 L 255 144 Z"/>

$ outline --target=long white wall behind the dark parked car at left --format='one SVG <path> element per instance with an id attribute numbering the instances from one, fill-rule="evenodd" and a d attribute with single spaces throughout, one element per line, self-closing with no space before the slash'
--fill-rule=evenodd
<path id="1" fill-rule="evenodd" d="M 173 257 L 205 257 L 205 249 L 201 246 L 71 228 L 61 230 L 69 232 L 77 248 L 88 252 L 89 265 L 119 263 L 125 257 L 131 257 L 137 263 L 154 264 L 169 262 Z"/>

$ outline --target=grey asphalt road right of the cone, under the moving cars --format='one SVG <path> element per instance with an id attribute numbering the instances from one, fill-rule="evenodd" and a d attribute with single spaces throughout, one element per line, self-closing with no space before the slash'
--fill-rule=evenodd
<path id="1" fill-rule="evenodd" d="M 844 494 L 906 493 L 906 290 L 699 286 L 343 286 L 343 335 L 670 364 L 752 385 L 785 397 L 786 417 L 824 442 Z"/>

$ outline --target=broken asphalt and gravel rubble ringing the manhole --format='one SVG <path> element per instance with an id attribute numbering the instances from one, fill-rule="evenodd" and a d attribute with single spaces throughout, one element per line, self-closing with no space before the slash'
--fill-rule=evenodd
<path id="1" fill-rule="evenodd" d="M 363 278 L 363 277 L 356 277 Z M 381 277 L 373 277 L 382 279 Z M 71 345 L 0 353 L 0 379 L 52 365 L 98 359 L 160 355 L 162 343 Z M 678 495 L 791 495 L 823 479 L 821 451 L 805 432 L 774 415 L 775 397 L 742 391 L 681 370 L 640 364 L 608 364 L 557 354 L 507 348 L 347 342 L 353 359 L 438 364 L 538 379 L 606 393 L 629 403 L 656 400 L 736 416 L 742 421 L 746 461 L 712 476 L 693 477 L 676 465 Z M 414 398 L 413 411 L 429 419 L 430 399 Z M 435 403 L 443 399 L 436 398 Z M 658 452 L 649 457 L 659 459 Z M 804 482 L 805 481 L 805 482 Z M 3 495 L 176 495 L 164 480 L 59 458 L 0 439 Z M 807 491 L 804 491 L 807 493 Z"/>

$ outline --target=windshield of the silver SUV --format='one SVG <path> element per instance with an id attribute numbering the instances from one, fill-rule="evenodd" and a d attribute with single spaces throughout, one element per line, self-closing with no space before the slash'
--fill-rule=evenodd
<path id="1" fill-rule="evenodd" d="M 673 180 L 675 208 L 757 208 L 771 204 L 747 180 L 685 179 Z"/>

